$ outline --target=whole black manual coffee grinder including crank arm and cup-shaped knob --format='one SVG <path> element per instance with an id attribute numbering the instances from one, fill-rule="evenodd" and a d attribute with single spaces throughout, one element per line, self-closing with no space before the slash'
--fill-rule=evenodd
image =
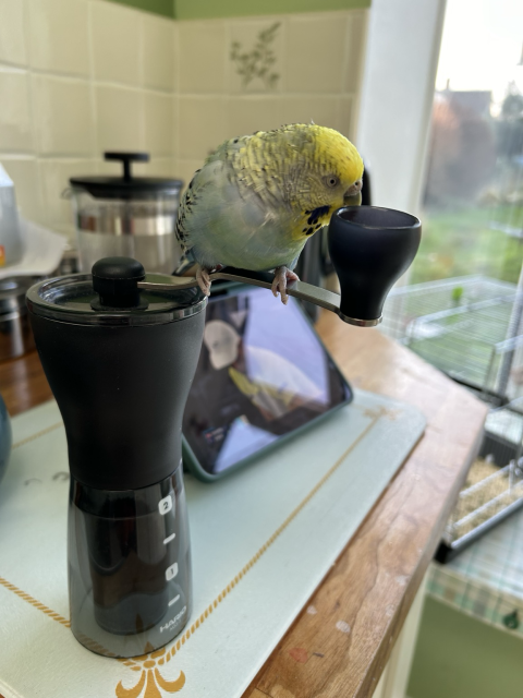
<path id="1" fill-rule="evenodd" d="M 409 214 L 341 208 L 329 225 L 341 296 L 301 281 L 289 293 L 350 324 L 375 326 L 419 237 Z M 211 278 L 268 288 L 272 280 L 232 268 Z M 156 650 L 191 614 L 181 429 L 206 303 L 196 279 L 146 274 L 127 257 L 99 260 L 92 274 L 27 292 L 68 438 L 71 629 L 99 654 Z"/>

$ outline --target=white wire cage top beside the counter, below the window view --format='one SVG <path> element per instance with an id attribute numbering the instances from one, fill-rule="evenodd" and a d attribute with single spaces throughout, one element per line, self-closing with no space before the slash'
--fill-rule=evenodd
<path id="1" fill-rule="evenodd" d="M 523 395 L 523 293 L 459 277 L 393 289 L 381 330 L 495 405 Z"/>

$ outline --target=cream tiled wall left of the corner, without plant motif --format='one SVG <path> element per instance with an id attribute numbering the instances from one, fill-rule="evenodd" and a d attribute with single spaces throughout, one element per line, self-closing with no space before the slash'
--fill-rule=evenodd
<path id="1" fill-rule="evenodd" d="M 177 173 L 174 22 L 105 0 L 0 0 L 0 161 L 27 218 L 70 234 L 74 174 Z"/>

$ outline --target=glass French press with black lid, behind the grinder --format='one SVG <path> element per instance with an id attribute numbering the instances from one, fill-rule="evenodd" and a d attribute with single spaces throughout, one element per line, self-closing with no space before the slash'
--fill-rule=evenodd
<path id="1" fill-rule="evenodd" d="M 150 272 L 172 274 L 181 254 L 174 229 L 182 180 L 133 177 L 131 163 L 147 161 L 146 153 L 105 158 L 122 161 L 122 177 L 70 180 L 80 269 L 89 272 L 102 257 L 126 256 Z"/>

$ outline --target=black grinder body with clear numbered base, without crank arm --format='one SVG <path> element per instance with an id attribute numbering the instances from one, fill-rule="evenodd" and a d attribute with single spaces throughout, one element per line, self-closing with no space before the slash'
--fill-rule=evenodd
<path id="1" fill-rule="evenodd" d="M 71 628 L 97 653 L 133 657 L 170 641 L 191 612 L 181 428 L 206 299 L 193 289 L 104 304 L 113 300 L 90 275 L 27 296 L 68 437 Z"/>

